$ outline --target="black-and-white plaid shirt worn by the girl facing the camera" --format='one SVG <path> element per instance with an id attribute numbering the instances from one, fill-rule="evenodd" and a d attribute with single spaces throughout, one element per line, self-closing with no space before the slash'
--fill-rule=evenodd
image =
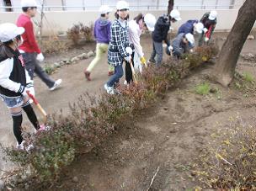
<path id="1" fill-rule="evenodd" d="M 128 24 L 125 21 L 125 28 L 115 19 L 111 26 L 111 40 L 108 50 L 108 61 L 112 66 L 119 66 L 123 63 L 125 57 L 129 56 L 125 48 L 129 46 Z"/>

